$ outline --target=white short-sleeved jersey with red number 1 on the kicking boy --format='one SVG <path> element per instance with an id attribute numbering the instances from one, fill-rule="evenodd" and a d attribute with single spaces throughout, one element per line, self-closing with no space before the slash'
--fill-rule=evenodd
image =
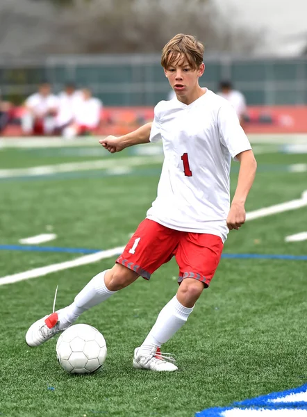
<path id="1" fill-rule="evenodd" d="M 165 159 L 147 218 L 170 229 L 214 234 L 224 242 L 231 157 L 251 149 L 233 107 L 210 90 L 189 105 L 160 101 L 150 141 L 161 138 Z"/>

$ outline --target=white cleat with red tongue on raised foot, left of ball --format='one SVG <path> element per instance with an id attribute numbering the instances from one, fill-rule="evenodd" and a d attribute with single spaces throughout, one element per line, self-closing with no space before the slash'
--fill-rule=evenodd
<path id="1" fill-rule="evenodd" d="M 26 332 L 26 343 L 29 346 L 39 346 L 49 341 L 51 337 L 59 332 L 63 332 L 58 321 L 58 313 L 49 314 L 36 321 Z"/>

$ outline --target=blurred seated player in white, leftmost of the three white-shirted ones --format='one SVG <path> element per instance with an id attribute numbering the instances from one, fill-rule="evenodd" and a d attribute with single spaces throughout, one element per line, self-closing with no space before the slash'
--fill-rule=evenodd
<path id="1" fill-rule="evenodd" d="M 40 84 L 38 92 L 26 99 L 22 115 L 22 131 L 25 135 L 51 135 L 56 127 L 58 98 L 51 93 L 48 82 Z"/>

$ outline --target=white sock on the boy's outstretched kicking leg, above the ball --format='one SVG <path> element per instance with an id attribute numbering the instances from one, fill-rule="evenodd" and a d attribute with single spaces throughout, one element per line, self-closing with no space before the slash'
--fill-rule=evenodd
<path id="1" fill-rule="evenodd" d="M 76 295 L 72 304 L 58 311 L 58 320 L 60 321 L 61 327 L 71 325 L 84 311 L 100 304 L 111 295 L 117 293 L 117 291 L 110 291 L 106 287 L 104 282 L 105 274 L 106 271 L 103 271 L 92 278 L 83 290 Z"/>

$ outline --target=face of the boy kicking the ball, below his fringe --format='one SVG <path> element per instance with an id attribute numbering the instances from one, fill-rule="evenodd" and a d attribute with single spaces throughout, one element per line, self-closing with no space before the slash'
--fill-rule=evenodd
<path id="1" fill-rule="evenodd" d="M 204 74 L 205 65 L 202 63 L 199 68 L 194 69 L 186 58 L 175 62 L 164 69 L 165 76 L 172 86 L 176 95 L 186 96 L 198 85 L 198 79 Z"/>

